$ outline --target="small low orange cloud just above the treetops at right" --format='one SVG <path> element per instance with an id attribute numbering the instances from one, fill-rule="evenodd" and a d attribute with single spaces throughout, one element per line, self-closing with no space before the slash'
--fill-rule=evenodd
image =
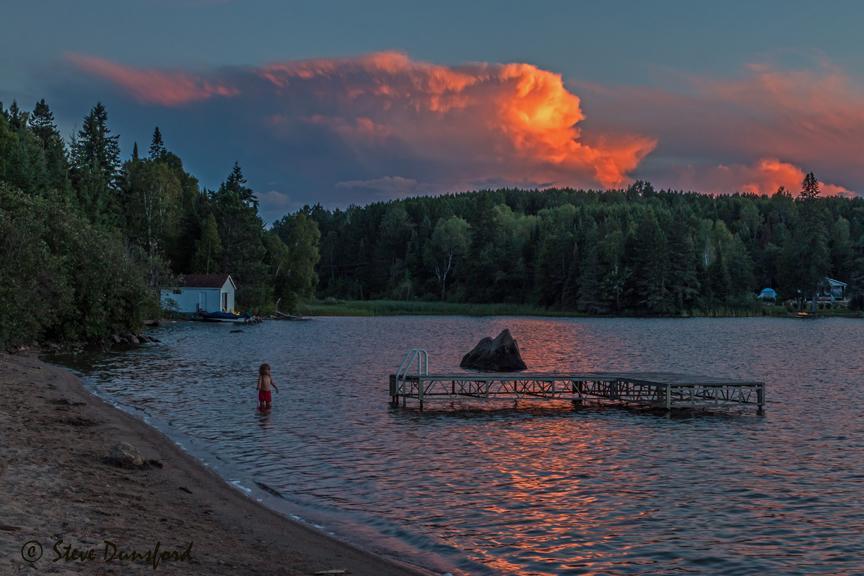
<path id="1" fill-rule="evenodd" d="M 721 164 L 706 169 L 688 167 L 678 181 L 678 186 L 712 194 L 774 194 L 780 186 L 793 196 L 801 190 L 805 172 L 789 162 L 776 158 L 763 158 L 753 164 Z M 823 196 L 852 196 L 853 192 L 827 182 L 821 183 Z"/>

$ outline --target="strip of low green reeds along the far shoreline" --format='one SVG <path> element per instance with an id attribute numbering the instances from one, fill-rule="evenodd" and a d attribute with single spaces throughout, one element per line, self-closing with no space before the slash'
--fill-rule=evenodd
<path id="1" fill-rule="evenodd" d="M 749 318 L 796 317 L 780 305 L 753 308 L 694 310 L 688 315 L 588 314 L 572 310 L 543 308 L 529 304 L 442 302 L 427 300 L 310 300 L 301 303 L 298 313 L 304 316 L 540 316 L 564 318 Z M 864 318 L 864 312 L 845 309 L 820 310 L 816 317 Z"/>

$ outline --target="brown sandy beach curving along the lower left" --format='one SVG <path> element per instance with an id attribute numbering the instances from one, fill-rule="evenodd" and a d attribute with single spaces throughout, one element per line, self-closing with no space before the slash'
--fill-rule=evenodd
<path id="1" fill-rule="evenodd" d="M 118 442 L 136 448 L 144 466 L 107 460 Z M 32 354 L 4 354 L 0 574 L 33 573 L 425 572 L 270 511 L 159 432 L 90 395 L 66 370 Z"/>

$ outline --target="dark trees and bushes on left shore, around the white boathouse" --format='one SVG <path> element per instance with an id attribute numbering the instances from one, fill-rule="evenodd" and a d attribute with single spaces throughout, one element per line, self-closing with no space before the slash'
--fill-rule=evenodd
<path id="1" fill-rule="evenodd" d="M 0 104 L 0 346 L 92 341 L 159 314 L 159 288 L 229 272 L 244 308 L 311 294 L 318 230 L 305 214 L 268 230 L 238 165 L 207 190 L 158 128 L 125 162 L 97 104 L 67 143 L 48 104 Z"/>

